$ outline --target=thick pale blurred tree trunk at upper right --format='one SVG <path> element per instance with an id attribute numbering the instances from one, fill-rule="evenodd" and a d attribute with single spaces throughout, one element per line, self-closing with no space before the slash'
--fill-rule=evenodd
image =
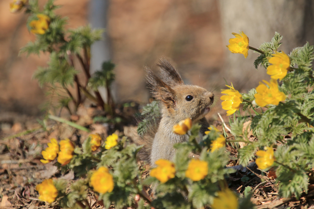
<path id="1" fill-rule="evenodd" d="M 270 41 L 275 31 L 283 35 L 280 50 L 285 53 L 303 46 L 306 41 L 314 43 L 313 0 L 220 0 L 220 13 L 224 45 L 234 38 L 232 32 L 243 31 L 249 37 L 249 45 L 258 48 Z M 232 54 L 225 47 L 226 62 L 222 76 L 233 82 L 235 88 L 248 90 L 256 88 L 262 79 L 269 80 L 265 69 L 258 71 L 253 61 L 258 54 L 249 50 L 245 59 L 242 54 Z"/>

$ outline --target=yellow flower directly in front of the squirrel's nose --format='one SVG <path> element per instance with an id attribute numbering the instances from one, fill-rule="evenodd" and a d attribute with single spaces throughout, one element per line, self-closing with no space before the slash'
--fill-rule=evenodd
<path id="1" fill-rule="evenodd" d="M 226 85 L 227 86 L 227 85 Z M 227 94 L 220 97 L 221 100 L 224 100 L 221 105 L 222 109 L 228 110 L 227 116 L 232 115 L 236 110 L 240 109 L 240 104 L 243 102 L 242 95 L 233 87 L 227 86 L 230 89 L 223 89 L 221 93 Z"/>

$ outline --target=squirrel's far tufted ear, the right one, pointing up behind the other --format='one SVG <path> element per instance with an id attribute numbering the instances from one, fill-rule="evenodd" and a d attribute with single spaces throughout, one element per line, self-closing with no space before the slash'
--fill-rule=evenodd
<path id="1" fill-rule="evenodd" d="M 160 67 L 161 80 L 167 85 L 172 87 L 177 84 L 184 84 L 179 72 L 166 59 L 161 58 L 157 66 Z"/>

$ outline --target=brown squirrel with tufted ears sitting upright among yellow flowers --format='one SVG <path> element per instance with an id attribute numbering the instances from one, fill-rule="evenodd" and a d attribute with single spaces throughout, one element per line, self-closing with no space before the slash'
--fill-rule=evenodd
<path id="1" fill-rule="evenodd" d="M 160 68 L 160 78 L 148 67 L 145 70 L 150 93 L 159 101 L 161 118 L 143 137 L 134 137 L 134 134 L 131 137 L 136 144 L 143 145 L 138 157 L 151 167 L 155 167 L 155 161 L 161 158 L 171 161 L 176 153 L 173 145 L 188 140 L 187 135 L 172 132 L 172 127 L 180 121 L 191 118 L 193 124 L 200 124 L 198 142 L 202 139 L 209 126 L 205 115 L 214 101 L 214 94 L 205 88 L 184 84 L 179 72 L 167 60 L 160 59 L 157 66 Z"/>

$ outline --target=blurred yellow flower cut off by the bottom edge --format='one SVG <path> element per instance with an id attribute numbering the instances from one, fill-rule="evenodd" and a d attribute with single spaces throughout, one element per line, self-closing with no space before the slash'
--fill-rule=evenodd
<path id="1" fill-rule="evenodd" d="M 238 198 L 229 188 L 217 193 L 218 196 L 214 198 L 212 209 L 238 209 Z"/>

